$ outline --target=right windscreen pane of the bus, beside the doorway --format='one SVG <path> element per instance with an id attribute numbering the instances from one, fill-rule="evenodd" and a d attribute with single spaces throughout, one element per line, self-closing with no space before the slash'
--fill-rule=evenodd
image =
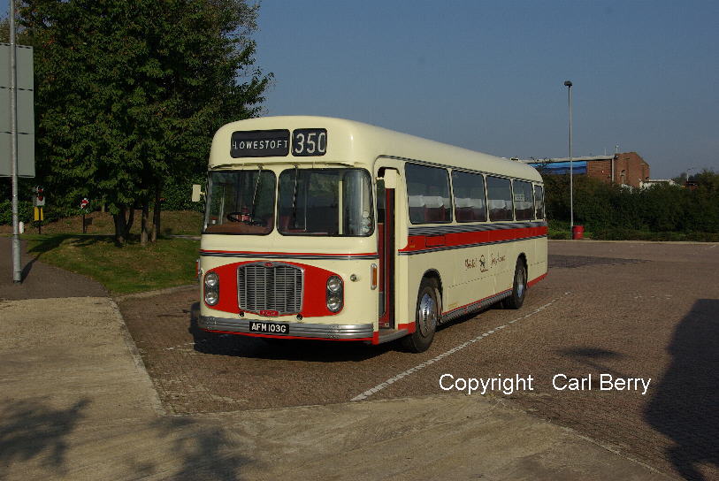
<path id="1" fill-rule="evenodd" d="M 371 179 L 363 169 L 287 169 L 279 174 L 279 233 L 367 236 Z"/>

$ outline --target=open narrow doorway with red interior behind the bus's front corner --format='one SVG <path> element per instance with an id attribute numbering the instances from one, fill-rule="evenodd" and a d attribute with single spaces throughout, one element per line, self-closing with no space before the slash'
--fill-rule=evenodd
<path id="1" fill-rule="evenodd" d="M 379 327 L 394 325 L 394 191 L 398 172 L 380 167 L 377 179 L 377 242 L 379 253 Z"/>

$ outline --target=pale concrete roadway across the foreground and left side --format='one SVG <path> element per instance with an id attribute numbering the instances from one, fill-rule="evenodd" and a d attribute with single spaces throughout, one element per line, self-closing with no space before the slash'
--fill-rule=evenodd
<path id="1" fill-rule="evenodd" d="M 8 258 L 0 271 L 10 273 Z M 12 286 L 24 299 L 0 299 L 0 479 L 663 478 L 501 397 L 168 416 L 115 302 L 42 298 L 30 280 L 39 272 L 53 275 L 35 262 Z M 65 282 L 83 294 L 92 281 Z M 166 308 L 176 294 L 125 302 Z M 164 318 L 146 314 L 147 324 Z"/>

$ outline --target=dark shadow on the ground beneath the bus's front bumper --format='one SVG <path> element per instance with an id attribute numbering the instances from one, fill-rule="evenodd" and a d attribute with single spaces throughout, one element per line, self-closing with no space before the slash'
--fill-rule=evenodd
<path id="1" fill-rule="evenodd" d="M 265 339 L 204 332 L 198 325 L 199 317 L 200 303 L 195 302 L 190 309 L 187 331 L 195 340 L 195 351 L 207 355 L 279 361 L 359 363 L 398 348 L 394 342 L 371 346 L 361 341 Z"/>

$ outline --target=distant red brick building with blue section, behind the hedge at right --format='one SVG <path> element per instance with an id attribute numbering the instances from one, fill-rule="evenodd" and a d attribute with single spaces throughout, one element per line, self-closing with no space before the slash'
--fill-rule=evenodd
<path id="1" fill-rule="evenodd" d="M 570 159 L 549 158 L 543 160 L 522 160 L 543 174 L 565 174 L 570 172 Z M 588 175 L 607 183 L 641 187 L 649 179 L 649 164 L 637 152 L 623 152 L 611 156 L 573 157 L 574 175 Z M 612 177 L 614 175 L 614 177 Z"/>

